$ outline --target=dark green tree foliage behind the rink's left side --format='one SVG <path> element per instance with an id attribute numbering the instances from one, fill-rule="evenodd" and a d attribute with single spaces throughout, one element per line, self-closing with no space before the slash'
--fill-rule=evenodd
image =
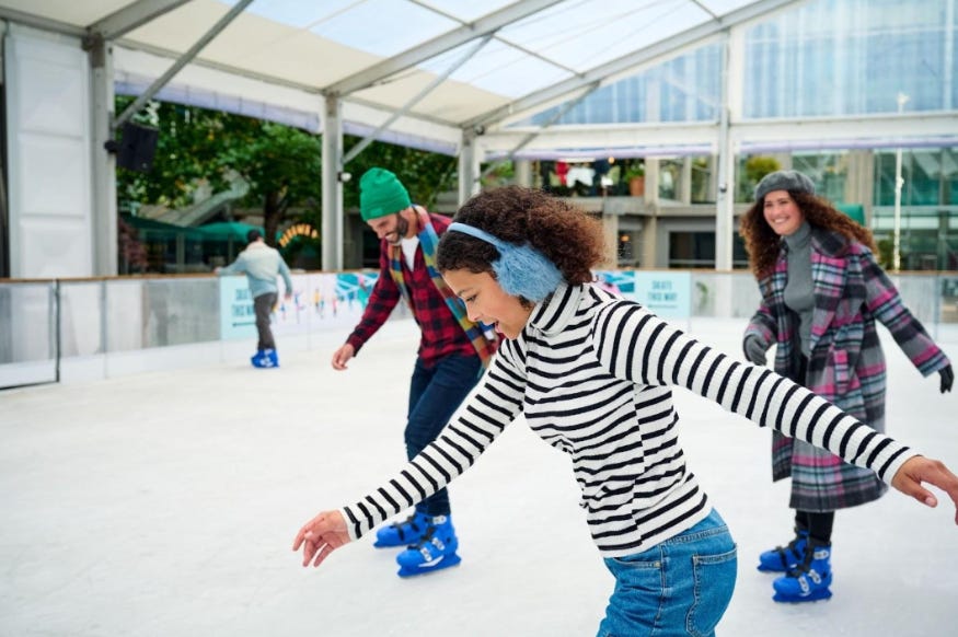
<path id="1" fill-rule="evenodd" d="M 117 97 L 117 112 L 132 102 Z M 149 173 L 117 171 L 122 200 L 183 208 L 200 187 L 213 193 L 230 187 L 232 174 L 250 184 L 246 204 L 262 207 L 268 241 L 291 207 L 305 209 L 302 220 L 321 228 L 322 144 L 303 130 L 166 102 L 150 102 L 134 119 L 159 129 Z M 344 152 L 360 138 L 345 136 Z M 344 167 L 354 179 L 344 186 L 344 206 L 359 206 L 359 177 L 372 166 L 399 175 L 417 204 L 429 208 L 439 193 L 454 187 L 457 159 L 373 141 Z M 299 219 L 297 219 L 299 220 Z"/>

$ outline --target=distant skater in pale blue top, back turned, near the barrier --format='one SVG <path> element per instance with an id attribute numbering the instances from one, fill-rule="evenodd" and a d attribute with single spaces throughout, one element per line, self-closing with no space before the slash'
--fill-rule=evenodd
<path id="1" fill-rule="evenodd" d="M 278 299 L 279 287 L 276 277 L 281 276 L 286 286 L 286 299 L 292 298 L 292 278 L 289 276 L 289 267 L 282 260 L 282 256 L 274 247 L 266 245 L 258 230 L 246 233 L 246 248 L 236 256 L 236 260 L 230 265 L 216 268 L 219 276 L 245 274 L 250 282 L 250 294 L 253 297 L 253 310 L 256 313 L 256 354 L 250 358 L 253 367 L 274 368 L 279 367 L 279 357 L 276 354 L 276 340 L 273 338 L 273 329 L 269 328 L 269 315 Z"/>

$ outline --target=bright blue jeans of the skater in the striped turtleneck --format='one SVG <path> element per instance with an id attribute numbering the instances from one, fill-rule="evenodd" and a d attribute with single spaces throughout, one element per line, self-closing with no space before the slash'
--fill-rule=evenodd
<path id="1" fill-rule="evenodd" d="M 735 589 L 736 546 L 715 509 L 643 553 L 605 559 L 615 576 L 598 637 L 712 637 Z"/>

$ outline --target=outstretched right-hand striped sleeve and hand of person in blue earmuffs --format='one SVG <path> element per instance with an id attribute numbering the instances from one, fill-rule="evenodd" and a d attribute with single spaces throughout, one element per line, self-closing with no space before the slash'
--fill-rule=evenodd
<path id="1" fill-rule="evenodd" d="M 593 343 L 600 363 L 616 378 L 646 385 L 683 386 L 761 427 L 869 468 L 915 497 L 923 494 L 914 489 L 914 479 L 899 479 L 899 473 L 905 463 L 921 465 L 925 468 L 911 475 L 948 491 L 958 507 L 958 480 L 951 482 L 947 468 L 947 474 L 927 470 L 927 463 L 936 461 L 912 462 L 916 454 L 908 445 L 766 368 L 735 360 L 699 343 L 636 303 L 619 301 L 604 308 L 597 317 Z"/>

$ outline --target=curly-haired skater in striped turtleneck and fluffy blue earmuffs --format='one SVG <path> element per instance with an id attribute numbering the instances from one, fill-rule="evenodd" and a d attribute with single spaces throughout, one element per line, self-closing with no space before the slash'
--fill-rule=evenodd
<path id="1" fill-rule="evenodd" d="M 567 454 L 588 529 L 615 580 L 598 635 L 714 635 L 735 588 L 737 549 L 686 465 L 672 385 L 822 441 L 927 506 L 937 500 L 921 483 L 937 485 L 958 507 L 958 477 L 940 462 L 602 290 L 592 269 L 603 255 L 600 222 L 542 192 L 510 186 L 462 207 L 439 243 L 437 268 L 470 317 L 495 324 L 505 340 L 434 443 L 363 498 L 300 529 L 293 549 L 302 546 L 303 566 L 319 566 L 446 486 L 524 414 Z M 504 542 L 513 530 L 503 524 Z"/>

